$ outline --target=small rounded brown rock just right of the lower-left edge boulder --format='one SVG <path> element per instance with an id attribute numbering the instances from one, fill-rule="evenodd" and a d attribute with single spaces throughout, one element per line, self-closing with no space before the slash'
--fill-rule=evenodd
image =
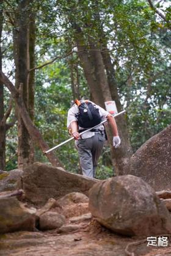
<path id="1" fill-rule="evenodd" d="M 40 215 L 39 229 L 40 230 L 51 230 L 62 227 L 65 224 L 65 216 L 54 211 L 46 211 Z"/>

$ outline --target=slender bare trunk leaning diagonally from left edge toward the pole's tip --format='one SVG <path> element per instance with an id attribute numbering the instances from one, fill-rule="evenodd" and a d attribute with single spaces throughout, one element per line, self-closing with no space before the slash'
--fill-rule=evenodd
<path id="1" fill-rule="evenodd" d="M 43 140 L 42 135 L 38 131 L 38 129 L 35 127 L 35 125 L 32 123 L 31 118 L 29 117 L 29 114 L 27 112 L 26 106 L 24 104 L 22 95 L 20 93 L 21 90 L 16 90 L 15 86 L 13 86 L 12 82 L 7 78 L 7 76 L 4 75 L 4 73 L 0 72 L 0 82 L 4 84 L 12 93 L 12 97 L 15 100 L 15 103 L 18 107 L 18 112 L 23 119 L 24 125 L 27 128 L 27 131 L 29 132 L 30 136 L 32 137 L 32 141 L 34 141 L 35 144 L 38 145 L 38 147 L 42 150 L 44 153 L 45 151 L 49 150 L 48 145 Z M 63 167 L 60 163 L 59 159 L 56 158 L 53 152 L 48 153 L 47 158 L 49 159 L 49 162 L 56 167 Z"/>

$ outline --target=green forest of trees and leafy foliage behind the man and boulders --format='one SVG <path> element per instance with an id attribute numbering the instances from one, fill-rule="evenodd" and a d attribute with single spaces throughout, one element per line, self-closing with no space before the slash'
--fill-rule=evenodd
<path id="1" fill-rule="evenodd" d="M 0 1 L 0 169 L 34 161 L 80 173 L 68 139 L 75 98 L 115 100 L 96 178 L 126 173 L 129 158 L 171 122 L 170 1 Z"/>

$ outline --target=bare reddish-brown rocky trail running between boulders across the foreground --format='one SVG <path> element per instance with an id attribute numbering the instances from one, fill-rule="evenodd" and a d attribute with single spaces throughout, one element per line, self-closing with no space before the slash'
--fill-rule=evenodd
<path id="1" fill-rule="evenodd" d="M 79 195 L 80 196 L 80 195 Z M 68 196 L 67 196 L 68 197 Z M 164 256 L 171 255 L 171 243 L 167 247 L 147 246 L 139 243 L 145 237 L 128 237 L 117 235 L 100 225 L 89 213 L 88 203 L 68 203 L 62 199 L 63 213 L 66 221 L 62 227 L 34 232 L 19 231 L 0 236 L 0 255 L 2 256 Z M 39 213 L 60 211 L 55 200 L 51 199 L 45 207 L 37 209 Z M 31 205 L 26 205 L 34 210 Z M 37 227 L 38 228 L 38 227 Z M 128 246 L 126 253 L 126 246 Z M 134 253 L 131 253 L 134 252 Z"/>

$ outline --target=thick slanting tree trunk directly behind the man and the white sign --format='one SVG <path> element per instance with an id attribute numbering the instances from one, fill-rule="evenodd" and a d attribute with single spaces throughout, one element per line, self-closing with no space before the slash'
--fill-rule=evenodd
<path id="1" fill-rule="evenodd" d="M 76 25 L 75 25 L 76 27 Z M 100 49 L 96 48 L 92 42 L 89 42 L 90 49 L 87 50 L 84 41 L 82 41 L 83 35 L 81 32 L 81 28 L 76 27 L 76 43 L 78 46 L 78 56 L 82 63 L 82 68 L 84 69 L 85 78 L 89 84 L 89 89 L 92 94 L 93 100 L 95 103 L 99 104 L 101 107 L 104 108 L 104 101 L 113 100 L 111 88 L 109 84 L 112 85 L 112 80 L 107 79 L 105 68 L 109 72 L 109 68 L 107 68 L 107 60 L 104 67 L 103 56 L 101 54 Z M 111 68 L 111 67 L 110 67 Z M 110 70 L 111 71 L 111 70 Z M 110 82 L 110 83 L 109 83 Z M 116 90 L 116 89 L 115 89 Z M 115 98 L 118 97 L 118 93 L 115 93 Z M 119 98 L 117 98 L 118 106 L 121 108 L 121 104 Z M 128 145 L 129 140 L 126 128 L 126 120 L 124 117 L 116 118 L 117 126 L 118 126 L 118 133 L 121 137 L 122 144 L 119 148 L 115 149 L 112 145 L 112 133 L 109 129 L 107 129 L 107 136 L 109 137 L 109 145 L 111 148 L 111 158 L 112 164 L 115 167 L 115 174 L 116 175 L 123 175 L 127 172 L 127 165 L 129 163 L 129 158 L 131 156 L 131 151 L 129 151 Z"/>

